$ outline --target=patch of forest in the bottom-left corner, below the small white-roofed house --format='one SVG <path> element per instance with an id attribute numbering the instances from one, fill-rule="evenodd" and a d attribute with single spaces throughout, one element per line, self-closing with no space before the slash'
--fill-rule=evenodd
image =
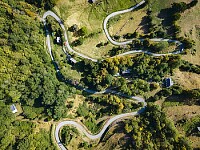
<path id="1" fill-rule="evenodd" d="M 40 130 L 35 134 L 36 124 L 16 120 L 10 107 L 0 101 L 0 149 L 56 149 L 51 143 L 50 134 Z"/>

